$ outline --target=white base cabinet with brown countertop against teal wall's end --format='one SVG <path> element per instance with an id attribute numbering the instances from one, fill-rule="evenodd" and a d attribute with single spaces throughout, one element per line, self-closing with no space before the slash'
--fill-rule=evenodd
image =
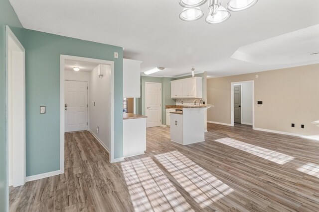
<path id="1" fill-rule="evenodd" d="M 146 150 L 146 118 L 134 113 L 123 113 L 123 156 L 144 154 Z"/>

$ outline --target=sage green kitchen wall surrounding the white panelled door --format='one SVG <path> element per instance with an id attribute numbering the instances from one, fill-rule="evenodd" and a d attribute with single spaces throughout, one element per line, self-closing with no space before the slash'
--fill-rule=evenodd
<path id="1" fill-rule="evenodd" d="M 145 82 L 158 82 L 161 83 L 161 123 L 166 124 L 166 111 L 165 105 L 175 105 L 175 100 L 170 98 L 170 81 L 175 78 L 170 77 L 154 77 L 154 76 L 141 76 L 141 98 L 137 99 L 137 111 L 139 114 L 146 114 L 145 106 Z"/>

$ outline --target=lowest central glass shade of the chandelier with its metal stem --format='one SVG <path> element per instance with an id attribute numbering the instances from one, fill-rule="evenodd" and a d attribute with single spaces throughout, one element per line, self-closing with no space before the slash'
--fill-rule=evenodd
<path id="1" fill-rule="evenodd" d="M 225 7 L 220 4 L 220 0 L 209 0 L 209 14 L 205 21 L 210 24 L 221 23 L 230 17 Z"/>

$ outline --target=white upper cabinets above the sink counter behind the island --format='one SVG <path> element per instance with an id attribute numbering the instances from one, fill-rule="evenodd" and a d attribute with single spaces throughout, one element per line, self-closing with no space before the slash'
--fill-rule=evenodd
<path id="1" fill-rule="evenodd" d="M 201 77 L 173 80 L 171 82 L 171 98 L 202 98 Z"/>

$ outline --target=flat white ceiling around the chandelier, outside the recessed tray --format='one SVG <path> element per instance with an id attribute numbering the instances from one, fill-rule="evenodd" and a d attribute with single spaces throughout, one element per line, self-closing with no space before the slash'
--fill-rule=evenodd
<path id="1" fill-rule="evenodd" d="M 256 64 L 236 60 L 237 49 L 319 24 L 319 0 L 259 0 L 253 7 L 231 12 L 224 23 L 207 24 L 178 18 L 178 0 L 10 0 L 23 27 L 124 47 L 124 57 L 143 61 L 142 71 L 165 67 L 152 75 L 177 76 L 207 71 L 225 76 L 305 65 Z M 226 5 L 228 0 L 221 0 Z M 208 3 L 201 6 L 207 15 Z M 309 41 L 312 51 L 318 40 Z M 281 48 L 273 46 L 275 53 Z M 258 47 L 258 45 L 257 45 Z M 258 55 L 264 50 L 260 48 Z M 285 51 L 284 51 L 285 52 Z M 294 54 L 304 54 L 303 48 Z M 284 53 L 285 54 L 285 53 Z M 319 63 L 318 60 L 308 62 Z"/>

